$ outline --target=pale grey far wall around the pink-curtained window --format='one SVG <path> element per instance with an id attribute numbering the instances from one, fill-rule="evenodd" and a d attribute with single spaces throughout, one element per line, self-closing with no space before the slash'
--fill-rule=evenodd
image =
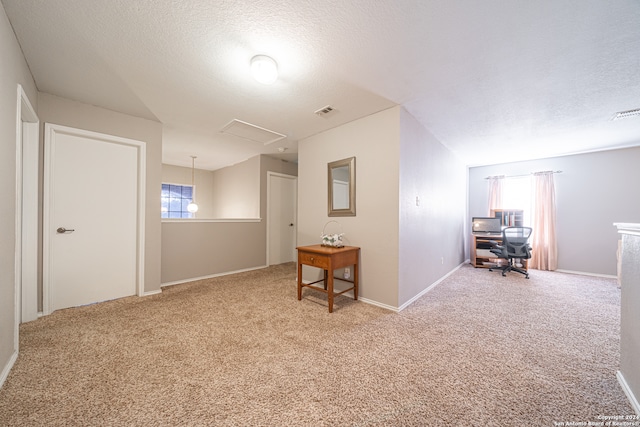
<path id="1" fill-rule="evenodd" d="M 470 168 L 467 220 L 488 213 L 486 176 L 561 170 L 554 176 L 558 269 L 616 275 L 613 223 L 640 222 L 638 165 L 640 147 Z"/>

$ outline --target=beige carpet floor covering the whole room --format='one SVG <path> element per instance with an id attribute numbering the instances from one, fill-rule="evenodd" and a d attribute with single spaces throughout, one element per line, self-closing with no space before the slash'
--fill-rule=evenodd
<path id="1" fill-rule="evenodd" d="M 633 414 L 614 280 L 465 265 L 401 313 L 295 264 L 21 326 L 2 426 L 556 426 Z M 362 284 L 366 287 L 366 283 Z M 575 424 L 574 424 L 575 425 Z"/>

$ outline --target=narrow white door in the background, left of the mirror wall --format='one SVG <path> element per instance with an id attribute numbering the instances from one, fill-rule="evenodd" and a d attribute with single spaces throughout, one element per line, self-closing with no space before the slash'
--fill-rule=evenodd
<path id="1" fill-rule="evenodd" d="M 269 265 L 295 260 L 297 187 L 295 176 L 269 174 Z"/>

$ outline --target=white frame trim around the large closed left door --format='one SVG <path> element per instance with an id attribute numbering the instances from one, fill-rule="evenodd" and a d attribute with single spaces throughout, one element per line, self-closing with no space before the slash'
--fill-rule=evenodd
<path id="1" fill-rule="evenodd" d="M 56 134 L 73 135 L 84 138 L 99 139 L 102 142 L 111 144 L 128 145 L 136 148 L 138 156 L 138 212 L 137 212 L 137 244 L 136 244 L 136 293 L 138 296 L 144 295 L 144 245 L 145 245 L 145 190 L 146 190 L 146 144 L 143 141 L 122 138 L 119 136 L 107 135 L 98 132 L 91 132 L 82 129 L 75 129 L 68 126 L 45 123 L 44 131 L 44 207 L 43 207 L 43 229 L 50 230 L 50 197 L 52 190 L 51 179 L 53 170 L 51 160 L 53 158 L 51 141 Z M 51 253 L 50 235 L 43 233 L 43 255 L 42 255 L 42 311 L 49 314 L 51 311 Z"/>

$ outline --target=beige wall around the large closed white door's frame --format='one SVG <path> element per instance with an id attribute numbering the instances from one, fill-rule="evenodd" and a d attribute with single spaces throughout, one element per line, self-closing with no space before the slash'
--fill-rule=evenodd
<path id="1" fill-rule="evenodd" d="M 162 182 L 162 125 L 93 105 L 39 93 L 40 122 L 146 142 L 145 292 L 160 289 L 160 189 Z M 44 131 L 41 129 L 41 137 Z"/>

